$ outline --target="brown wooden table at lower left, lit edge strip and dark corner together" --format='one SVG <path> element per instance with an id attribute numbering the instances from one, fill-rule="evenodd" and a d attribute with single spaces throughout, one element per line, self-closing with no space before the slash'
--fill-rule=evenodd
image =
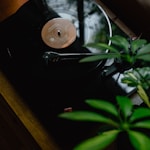
<path id="1" fill-rule="evenodd" d="M 17 91 L 0 72 L 0 149 L 59 150 Z"/>

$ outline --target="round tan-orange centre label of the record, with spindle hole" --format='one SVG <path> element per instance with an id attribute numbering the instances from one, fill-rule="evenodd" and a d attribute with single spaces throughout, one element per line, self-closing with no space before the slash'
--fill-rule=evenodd
<path id="1" fill-rule="evenodd" d="M 63 49 L 76 39 L 76 28 L 68 19 L 54 18 L 42 28 L 41 36 L 49 47 Z"/>

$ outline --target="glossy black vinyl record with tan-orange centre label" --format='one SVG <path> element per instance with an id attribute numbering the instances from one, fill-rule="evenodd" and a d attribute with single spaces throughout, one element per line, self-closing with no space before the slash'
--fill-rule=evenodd
<path id="1" fill-rule="evenodd" d="M 80 58 L 97 55 L 99 49 L 87 43 L 105 42 L 112 35 L 105 11 L 93 0 L 42 0 L 38 5 L 45 17 L 41 37 L 49 48 L 43 53 L 47 78 L 72 79 L 101 71 L 105 60 L 80 63 Z M 55 14 L 57 17 L 51 17 Z M 56 15 L 57 14 L 57 15 Z M 48 20 L 49 19 L 49 20 Z M 106 50 L 107 51 L 107 50 Z M 81 54 L 81 55 L 80 55 Z"/>

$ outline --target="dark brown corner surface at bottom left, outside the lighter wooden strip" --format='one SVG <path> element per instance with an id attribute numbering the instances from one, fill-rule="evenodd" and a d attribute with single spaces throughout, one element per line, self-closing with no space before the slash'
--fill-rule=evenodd
<path id="1" fill-rule="evenodd" d="M 41 150 L 1 94 L 0 148 L 2 150 Z"/>

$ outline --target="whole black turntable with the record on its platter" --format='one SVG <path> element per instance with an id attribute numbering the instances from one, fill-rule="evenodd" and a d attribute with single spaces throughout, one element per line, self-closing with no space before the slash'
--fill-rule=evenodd
<path id="1" fill-rule="evenodd" d="M 106 13 L 92 0 L 29 0 L 0 24 L 1 69 L 64 150 L 91 125 L 80 124 L 78 135 L 78 123 L 57 115 L 66 107 L 86 108 L 86 98 L 115 99 L 114 83 L 100 77 L 105 61 L 79 63 L 100 53 L 84 44 L 109 44 L 111 35 Z"/>

